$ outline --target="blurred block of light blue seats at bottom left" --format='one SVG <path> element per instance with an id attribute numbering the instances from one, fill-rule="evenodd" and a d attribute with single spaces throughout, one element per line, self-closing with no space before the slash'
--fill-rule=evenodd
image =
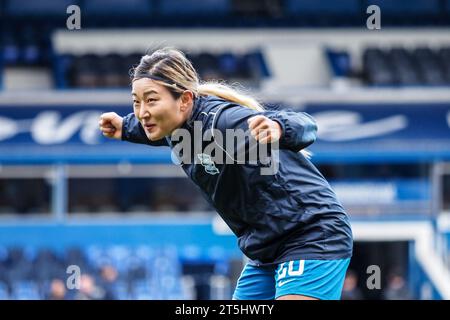
<path id="1" fill-rule="evenodd" d="M 81 279 L 81 289 L 65 289 L 59 298 L 187 299 L 196 295 L 186 281 L 192 276 L 183 275 L 180 255 L 173 250 L 146 246 L 72 247 L 66 252 L 2 248 L 1 266 L 8 272 L 2 273 L 0 294 L 2 299 L 56 299 L 55 282 L 65 282 L 66 265 L 77 265 L 86 277 Z M 203 272 L 203 277 L 208 279 L 212 271 Z"/>

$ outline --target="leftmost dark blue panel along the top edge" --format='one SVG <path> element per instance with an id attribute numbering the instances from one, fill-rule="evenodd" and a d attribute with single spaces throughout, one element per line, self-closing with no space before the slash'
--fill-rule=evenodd
<path id="1" fill-rule="evenodd" d="M 67 16 L 67 7 L 79 5 L 79 0 L 8 0 L 5 14 L 11 16 Z"/>

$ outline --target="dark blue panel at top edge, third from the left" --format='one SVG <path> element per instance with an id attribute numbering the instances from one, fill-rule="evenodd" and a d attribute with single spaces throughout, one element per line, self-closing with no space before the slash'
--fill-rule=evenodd
<path id="1" fill-rule="evenodd" d="M 160 2 L 159 13 L 168 16 L 183 15 L 226 15 L 230 13 L 230 0 L 164 0 Z"/>

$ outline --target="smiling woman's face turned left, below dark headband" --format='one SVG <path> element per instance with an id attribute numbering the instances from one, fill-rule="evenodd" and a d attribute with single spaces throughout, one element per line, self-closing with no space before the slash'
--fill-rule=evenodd
<path id="1" fill-rule="evenodd" d="M 133 81 L 131 94 L 134 114 L 152 141 L 169 136 L 187 120 L 192 110 L 190 91 L 174 99 L 164 85 L 148 78 Z"/>

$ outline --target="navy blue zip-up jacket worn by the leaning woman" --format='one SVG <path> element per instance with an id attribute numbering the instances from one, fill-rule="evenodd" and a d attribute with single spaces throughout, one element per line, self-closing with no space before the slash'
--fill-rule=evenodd
<path id="1" fill-rule="evenodd" d="M 203 131 L 220 130 L 225 137 L 226 129 L 247 131 L 247 119 L 256 114 L 282 127 L 276 174 L 261 174 L 261 166 L 270 165 L 265 162 L 205 163 L 194 151 L 189 155 L 191 164 L 181 164 L 183 170 L 236 234 L 251 263 L 351 257 L 348 216 L 322 174 L 299 152 L 316 139 L 311 116 L 290 110 L 259 112 L 215 96 L 200 96 L 182 127 L 193 134 L 194 121 L 200 121 Z M 172 149 L 179 143 L 173 137 L 150 141 L 132 113 L 123 118 L 122 140 Z"/>

